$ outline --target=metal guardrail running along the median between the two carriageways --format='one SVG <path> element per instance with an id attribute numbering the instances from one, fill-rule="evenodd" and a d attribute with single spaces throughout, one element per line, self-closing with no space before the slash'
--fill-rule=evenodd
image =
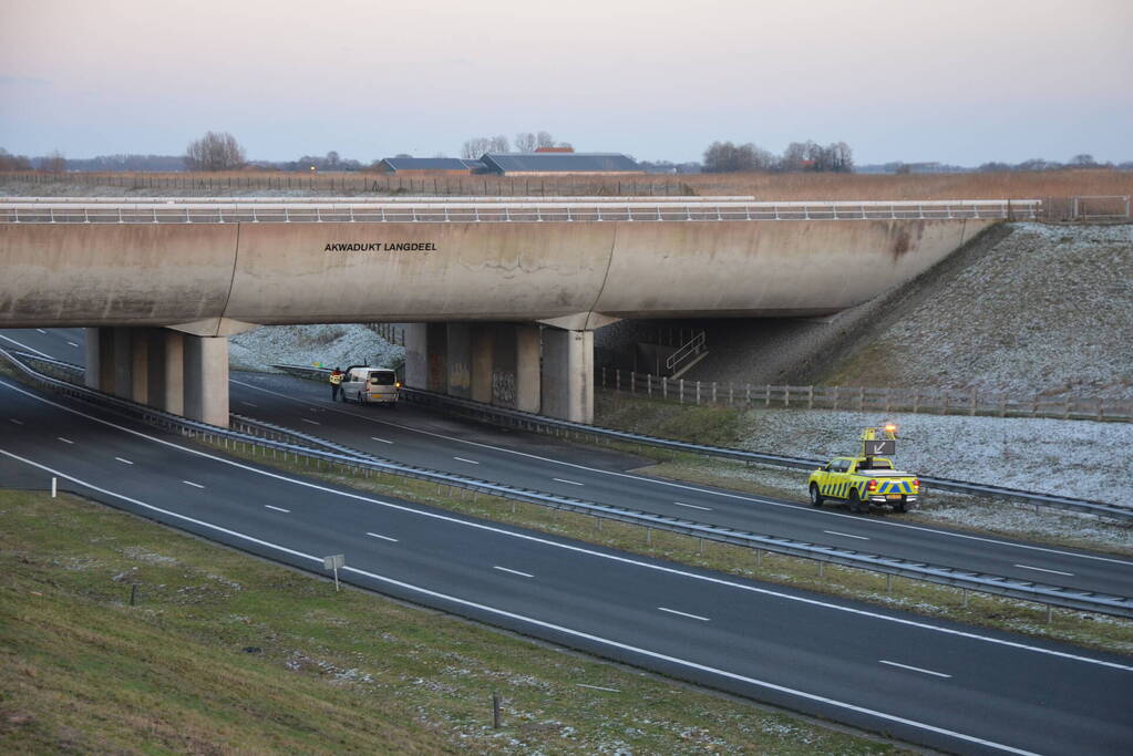
<path id="1" fill-rule="evenodd" d="M 16 354 L 19 356 L 16 356 Z M 79 386 L 59 378 L 46 376 L 25 363 L 25 361 L 33 362 L 36 360 L 43 360 L 43 358 L 36 355 L 23 352 L 14 353 L 5 349 L 0 349 L 0 355 L 8 359 L 11 364 L 16 366 L 24 372 L 24 375 L 39 383 L 41 386 L 48 387 L 57 393 L 75 397 L 80 401 L 92 402 L 102 406 L 110 406 L 119 412 L 126 413 L 129 416 L 140 419 L 148 424 L 169 428 L 195 437 L 203 437 L 206 440 L 223 439 L 225 444 L 242 443 L 252 445 L 254 449 L 258 447 L 273 449 L 275 452 L 282 452 L 284 456 L 291 454 L 296 459 L 300 456 L 314 458 L 355 471 L 364 471 L 367 475 L 370 472 L 378 474 L 390 473 L 403 478 L 425 480 L 438 486 L 448 486 L 450 489 L 459 488 L 474 492 L 487 493 L 504 499 L 537 504 L 539 506 L 546 506 L 554 509 L 573 512 L 603 519 L 613 519 L 647 529 L 664 530 L 708 541 L 742 545 L 757 551 L 768 551 L 773 553 L 800 557 L 823 564 L 837 564 L 846 567 L 881 573 L 885 575 L 898 575 L 928 583 L 951 585 L 963 590 L 1022 599 L 1045 604 L 1047 607 L 1062 607 L 1079 611 L 1092 611 L 1115 617 L 1133 618 L 1133 598 L 1130 596 L 1099 594 L 1091 591 L 1080 591 L 1059 585 L 1021 581 L 999 575 L 990 575 L 987 573 L 930 565 L 928 562 L 911 559 L 898 559 L 840 547 L 796 541 L 775 535 L 748 533 L 729 527 L 721 527 L 718 525 L 708 525 L 695 521 L 682 519 L 679 517 L 667 517 L 649 512 L 614 507 L 611 505 L 586 501 L 583 499 L 576 499 L 572 497 L 545 493 L 531 489 L 503 486 L 465 475 L 454 475 L 423 467 L 403 465 L 381 459 L 380 457 L 353 453 L 353 450 L 350 450 L 350 454 L 321 450 L 318 448 L 300 446 L 270 437 L 255 436 L 242 430 L 219 428 L 216 426 L 210 426 L 208 423 L 187 420 L 179 415 L 147 407 L 127 400 L 110 396 L 109 394 L 96 392 L 85 386 Z M 50 359 L 45 360 L 45 362 L 56 367 L 68 364 Z M 69 367 L 75 369 L 75 366 Z M 315 368 L 303 368 L 300 366 L 288 367 L 296 370 L 307 370 L 308 375 L 317 375 L 318 377 L 322 377 L 323 372 L 322 370 Z M 236 421 L 238 424 L 244 424 L 249 429 L 254 426 L 258 427 L 261 430 L 266 430 L 270 435 L 275 433 L 289 435 L 295 438 L 310 438 L 305 433 L 282 429 L 275 426 L 269 426 L 267 423 L 249 421 L 248 419 L 240 416 L 237 416 Z M 329 443 L 320 440 L 320 444 L 325 445 Z M 347 447 L 341 448 L 346 449 Z"/>

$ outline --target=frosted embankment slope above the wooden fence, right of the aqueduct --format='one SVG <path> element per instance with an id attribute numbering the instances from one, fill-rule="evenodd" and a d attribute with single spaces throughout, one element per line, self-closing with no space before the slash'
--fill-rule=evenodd
<path id="1" fill-rule="evenodd" d="M 1133 397 L 1133 225 L 1015 224 L 826 383 Z"/>

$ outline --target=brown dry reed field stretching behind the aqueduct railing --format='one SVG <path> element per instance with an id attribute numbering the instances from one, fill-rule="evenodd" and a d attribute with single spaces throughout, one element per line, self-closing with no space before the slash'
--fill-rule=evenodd
<path id="1" fill-rule="evenodd" d="M 620 177 L 424 177 L 375 173 L 0 173 L 11 195 L 338 196 L 755 196 L 759 200 L 1045 199 L 1133 195 L 1133 171 L 1105 169 L 1004 173 L 701 173 Z"/>

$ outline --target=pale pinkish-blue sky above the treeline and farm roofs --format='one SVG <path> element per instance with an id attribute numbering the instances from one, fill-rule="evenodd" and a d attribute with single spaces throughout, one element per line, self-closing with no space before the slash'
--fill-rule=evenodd
<path id="1" fill-rule="evenodd" d="M 1133 0 L 0 0 L 0 147 L 1133 160 Z"/>

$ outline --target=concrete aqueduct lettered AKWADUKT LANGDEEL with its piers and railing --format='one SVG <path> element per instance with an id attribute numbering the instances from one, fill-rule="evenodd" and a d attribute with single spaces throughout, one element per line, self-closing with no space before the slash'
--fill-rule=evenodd
<path id="1" fill-rule="evenodd" d="M 85 326 L 88 385 L 227 424 L 228 336 L 409 323 L 409 385 L 590 420 L 602 325 L 837 312 L 1038 205 L 8 199 L 0 327 Z"/>

